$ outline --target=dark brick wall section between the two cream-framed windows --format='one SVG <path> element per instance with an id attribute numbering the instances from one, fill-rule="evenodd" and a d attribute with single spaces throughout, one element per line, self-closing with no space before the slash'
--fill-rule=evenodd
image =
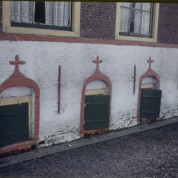
<path id="1" fill-rule="evenodd" d="M 114 39 L 116 3 L 82 2 L 80 34 L 84 38 Z"/>

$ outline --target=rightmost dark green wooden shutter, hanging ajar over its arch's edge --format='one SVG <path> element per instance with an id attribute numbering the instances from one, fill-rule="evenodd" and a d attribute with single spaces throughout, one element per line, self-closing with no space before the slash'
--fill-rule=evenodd
<path id="1" fill-rule="evenodd" d="M 141 90 L 140 118 L 159 118 L 162 90 Z"/>

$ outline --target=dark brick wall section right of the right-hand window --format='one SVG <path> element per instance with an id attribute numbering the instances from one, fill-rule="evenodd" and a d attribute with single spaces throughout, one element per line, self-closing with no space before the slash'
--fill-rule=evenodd
<path id="1" fill-rule="evenodd" d="M 178 44 L 178 4 L 160 3 L 158 43 Z"/>

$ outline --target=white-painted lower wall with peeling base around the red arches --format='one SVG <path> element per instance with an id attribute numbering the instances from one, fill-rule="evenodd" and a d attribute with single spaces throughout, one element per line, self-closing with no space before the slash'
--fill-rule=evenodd
<path id="1" fill-rule="evenodd" d="M 19 70 L 40 88 L 39 142 L 43 146 L 75 140 L 80 135 L 80 105 L 84 81 L 94 73 L 97 55 L 100 71 L 111 81 L 110 130 L 137 125 L 140 77 L 152 69 L 160 77 L 160 119 L 177 116 L 178 50 L 176 48 L 117 46 L 65 42 L 0 41 L 0 84 L 14 71 L 18 54 L 26 64 Z M 61 112 L 58 113 L 58 68 L 61 65 Z M 133 94 L 134 65 L 136 89 Z M 94 84 L 93 84 L 94 85 Z M 15 91 L 15 90 L 14 90 Z M 4 93 L 10 94 L 8 90 Z M 32 105 L 33 106 L 33 105 Z"/>

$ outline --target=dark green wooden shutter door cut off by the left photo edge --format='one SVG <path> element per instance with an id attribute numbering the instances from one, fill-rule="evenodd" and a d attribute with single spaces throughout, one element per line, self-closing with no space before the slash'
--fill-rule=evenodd
<path id="1" fill-rule="evenodd" d="M 0 146 L 29 140 L 28 103 L 0 107 Z"/>

